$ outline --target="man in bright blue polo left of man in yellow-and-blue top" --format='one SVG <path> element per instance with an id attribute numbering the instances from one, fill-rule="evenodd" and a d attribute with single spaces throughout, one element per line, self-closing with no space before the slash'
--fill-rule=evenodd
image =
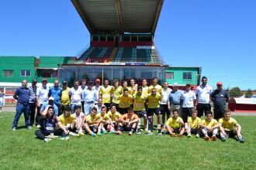
<path id="1" fill-rule="evenodd" d="M 54 87 L 50 87 L 48 97 L 54 97 L 54 104 L 58 108 L 58 115 L 61 114 L 61 87 L 59 86 L 59 81 L 54 81 Z M 54 109 L 55 110 L 55 109 Z"/>

